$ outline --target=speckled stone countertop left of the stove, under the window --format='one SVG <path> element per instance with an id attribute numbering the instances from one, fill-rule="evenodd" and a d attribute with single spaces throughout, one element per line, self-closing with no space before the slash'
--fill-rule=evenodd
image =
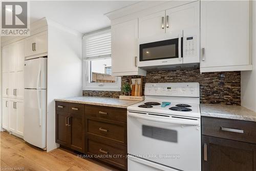
<path id="1" fill-rule="evenodd" d="M 132 100 L 119 100 L 116 98 L 86 97 L 86 96 L 60 98 L 60 99 L 54 99 L 54 100 L 60 101 L 60 102 L 80 103 L 80 104 L 119 107 L 119 108 L 127 108 L 130 105 L 140 102 L 140 101 L 132 101 Z"/>

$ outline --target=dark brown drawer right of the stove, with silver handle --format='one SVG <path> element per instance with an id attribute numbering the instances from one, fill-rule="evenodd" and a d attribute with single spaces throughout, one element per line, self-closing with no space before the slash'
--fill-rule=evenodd
<path id="1" fill-rule="evenodd" d="M 202 135 L 256 144 L 256 123 L 202 117 Z"/>

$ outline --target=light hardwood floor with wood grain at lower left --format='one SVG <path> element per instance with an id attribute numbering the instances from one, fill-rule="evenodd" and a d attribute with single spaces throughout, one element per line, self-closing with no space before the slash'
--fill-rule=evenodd
<path id="1" fill-rule="evenodd" d="M 36 171 L 117 170 L 91 159 L 78 158 L 75 153 L 63 148 L 57 148 L 47 153 L 18 137 L 9 135 L 7 131 L 0 133 L 0 140 L 0 170 L 10 170 L 8 168 Z"/>

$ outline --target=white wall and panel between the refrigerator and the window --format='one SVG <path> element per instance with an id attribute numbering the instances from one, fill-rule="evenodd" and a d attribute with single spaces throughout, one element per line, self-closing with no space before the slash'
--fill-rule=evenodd
<path id="1" fill-rule="evenodd" d="M 55 143 L 56 98 L 82 95 L 82 34 L 48 22 L 47 151 Z"/>

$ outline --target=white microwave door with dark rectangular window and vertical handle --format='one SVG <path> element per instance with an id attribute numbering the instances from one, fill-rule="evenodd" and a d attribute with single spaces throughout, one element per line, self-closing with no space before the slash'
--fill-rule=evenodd
<path id="1" fill-rule="evenodd" d="M 177 32 L 166 36 L 164 40 L 140 43 L 138 66 L 151 67 L 182 64 L 182 36 L 182 32 Z"/>

